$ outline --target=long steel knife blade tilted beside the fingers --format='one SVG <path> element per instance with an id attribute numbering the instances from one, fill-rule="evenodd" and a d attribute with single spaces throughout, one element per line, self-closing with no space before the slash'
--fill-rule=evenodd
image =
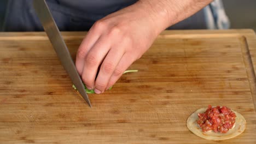
<path id="1" fill-rule="evenodd" d="M 45 0 L 33 0 L 33 7 L 39 17 L 40 22 L 44 27 L 44 31 L 48 35 L 51 44 L 54 47 L 57 56 L 59 57 L 61 64 L 67 71 L 78 92 L 82 95 L 86 103 L 91 107 L 91 103 L 87 93 L 85 92 L 83 82 L 75 68 L 72 57 L 68 51 L 67 45 L 63 40 L 59 28 L 57 27 L 53 16 L 46 4 Z"/>

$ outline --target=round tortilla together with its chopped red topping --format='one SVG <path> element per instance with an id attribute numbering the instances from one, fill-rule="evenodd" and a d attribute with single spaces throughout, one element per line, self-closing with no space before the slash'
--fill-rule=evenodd
<path id="1" fill-rule="evenodd" d="M 202 108 L 187 120 L 188 129 L 207 140 L 226 140 L 238 136 L 246 128 L 245 118 L 226 106 Z"/>

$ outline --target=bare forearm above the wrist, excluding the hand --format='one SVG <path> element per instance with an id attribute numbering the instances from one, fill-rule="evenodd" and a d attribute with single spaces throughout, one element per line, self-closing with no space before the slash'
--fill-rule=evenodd
<path id="1" fill-rule="evenodd" d="M 211 3 L 212 0 L 140 0 L 140 5 L 149 14 L 158 33 L 186 19 Z"/>

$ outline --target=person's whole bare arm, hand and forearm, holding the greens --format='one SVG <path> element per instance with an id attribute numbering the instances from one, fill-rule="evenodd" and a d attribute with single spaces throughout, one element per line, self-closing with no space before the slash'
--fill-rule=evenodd
<path id="1" fill-rule="evenodd" d="M 138 1 L 97 21 L 82 41 L 75 62 L 86 87 L 103 93 L 149 49 L 161 31 L 208 3 L 210 0 Z"/>

